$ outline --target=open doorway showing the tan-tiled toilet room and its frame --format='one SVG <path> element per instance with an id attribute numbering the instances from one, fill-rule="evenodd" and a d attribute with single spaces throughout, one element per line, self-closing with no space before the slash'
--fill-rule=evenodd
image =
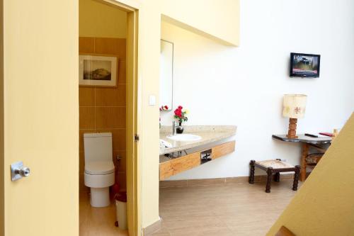
<path id="1" fill-rule="evenodd" d="M 80 235 L 139 235 L 137 18 L 116 1 L 79 0 Z"/>

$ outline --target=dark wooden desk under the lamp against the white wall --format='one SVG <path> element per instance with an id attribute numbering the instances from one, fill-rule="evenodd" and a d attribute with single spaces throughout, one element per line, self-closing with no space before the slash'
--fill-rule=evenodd
<path id="1" fill-rule="evenodd" d="M 307 161 L 306 158 L 309 156 L 309 148 L 314 147 L 320 153 L 323 154 L 326 152 L 325 144 L 331 144 L 331 137 L 309 137 L 305 135 L 298 135 L 297 138 L 288 138 L 287 135 L 272 135 L 272 137 L 276 140 L 280 140 L 283 142 L 299 142 L 302 143 L 302 154 L 301 154 L 301 172 L 300 172 L 300 181 L 304 181 L 306 179 L 306 167 Z"/>

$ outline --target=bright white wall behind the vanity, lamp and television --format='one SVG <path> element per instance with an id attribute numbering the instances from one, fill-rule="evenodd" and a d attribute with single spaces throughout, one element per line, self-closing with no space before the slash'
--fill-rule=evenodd
<path id="1" fill-rule="evenodd" d="M 307 94 L 298 133 L 340 128 L 354 108 L 354 1 L 241 1 L 240 47 L 219 45 L 163 23 L 174 43 L 174 108 L 187 125 L 237 125 L 236 152 L 171 179 L 247 176 L 250 159 L 299 164 L 297 144 L 272 140 L 287 132 L 283 94 Z M 230 25 L 232 25 L 230 23 Z M 321 54 L 317 79 L 288 76 L 290 52 Z M 162 113 L 171 125 L 172 113 Z"/>

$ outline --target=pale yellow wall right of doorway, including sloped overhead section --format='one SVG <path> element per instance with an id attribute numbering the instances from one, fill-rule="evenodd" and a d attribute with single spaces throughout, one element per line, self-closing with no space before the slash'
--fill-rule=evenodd
<path id="1" fill-rule="evenodd" d="M 139 168 L 142 169 L 142 227 L 147 227 L 159 220 L 159 108 L 149 106 L 149 96 L 156 96 L 156 104 L 159 104 L 161 13 L 190 26 L 188 29 L 195 33 L 212 35 L 211 38 L 218 38 L 219 42 L 238 45 L 239 1 L 120 2 L 139 9 Z M 219 23 L 223 27 L 218 26 Z"/>

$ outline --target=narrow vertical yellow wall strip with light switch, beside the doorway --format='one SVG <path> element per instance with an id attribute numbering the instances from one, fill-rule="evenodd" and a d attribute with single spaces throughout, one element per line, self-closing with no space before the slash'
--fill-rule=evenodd
<path id="1" fill-rule="evenodd" d="M 149 106 L 149 95 L 159 96 L 161 15 L 155 4 L 139 11 L 139 88 L 141 90 L 142 227 L 159 220 L 159 101 Z"/>

